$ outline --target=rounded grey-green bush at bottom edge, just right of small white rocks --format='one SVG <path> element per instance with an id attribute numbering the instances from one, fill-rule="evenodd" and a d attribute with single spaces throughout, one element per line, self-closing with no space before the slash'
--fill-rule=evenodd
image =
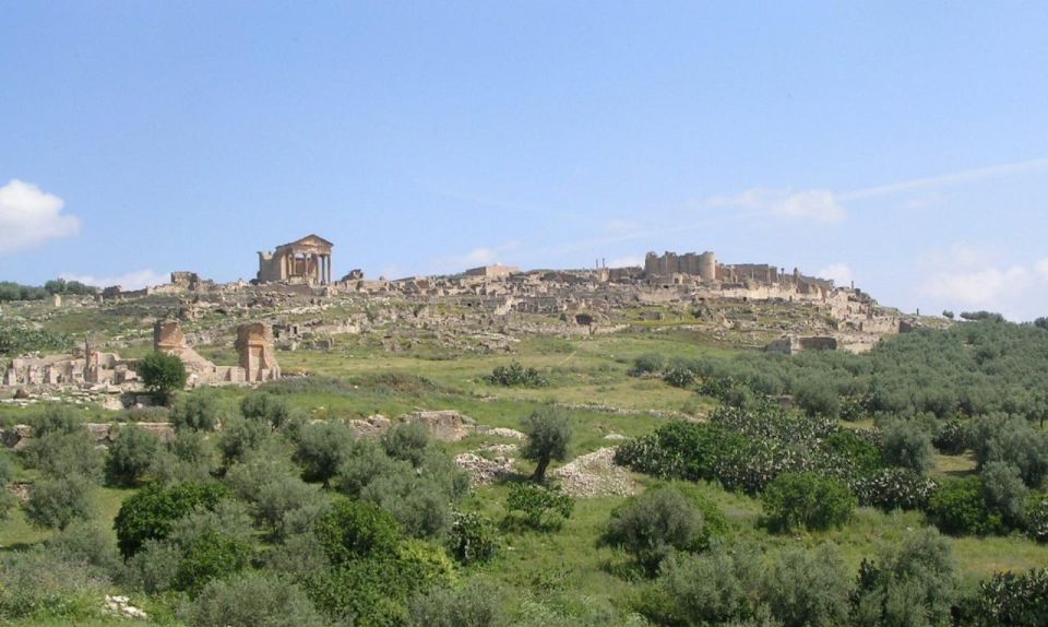
<path id="1" fill-rule="evenodd" d="M 323 619 L 294 582 L 264 572 L 211 581 L 180 616 L 194 627 L 323 627 Z"/>

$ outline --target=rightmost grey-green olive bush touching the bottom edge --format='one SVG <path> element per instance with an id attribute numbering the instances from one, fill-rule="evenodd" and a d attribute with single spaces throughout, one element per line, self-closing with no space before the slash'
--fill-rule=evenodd
<path id="1" fill-rule="evenodd" d="M 949 543 L 922 529 L 882 549 L 876 561 L 862 561 L 853 594 L 854 622 L 859 627 L 948 625 L 956 592 Z"/>

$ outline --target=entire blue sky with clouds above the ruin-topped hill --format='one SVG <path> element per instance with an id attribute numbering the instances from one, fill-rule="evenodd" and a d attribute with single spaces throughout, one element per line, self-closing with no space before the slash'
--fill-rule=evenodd
<path id="1" fill-rule="evenodd" d="M 23 2 L 0 277 L 715 250 L 1048 315 L 1048 3 Z M 159 279 L 157 279 L 159 277 Z"/>

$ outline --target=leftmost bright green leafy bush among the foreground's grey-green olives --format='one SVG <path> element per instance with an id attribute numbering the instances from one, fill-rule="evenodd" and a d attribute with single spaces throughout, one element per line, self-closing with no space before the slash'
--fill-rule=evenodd
<path id="1" fill-rule="evenodd" d="M 134 555 L 146 540 L 167 537 L 182 517 L 196 508 L 215 509 L 227 496 L 228 488 L 221 484 L 183 483 L 142 488 L 124 499 L 114 521 L 120 553 L 124 557 Z"/>

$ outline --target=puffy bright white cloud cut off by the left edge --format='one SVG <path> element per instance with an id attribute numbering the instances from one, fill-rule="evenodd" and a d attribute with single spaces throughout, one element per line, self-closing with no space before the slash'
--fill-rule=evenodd
<path id="1" fill-rule="evenodd" d="M 63 215 L 64 205 L 57 196 L 16 178 L 0 187 L 0 253 L 75 235 L 80 220 Z"/>

